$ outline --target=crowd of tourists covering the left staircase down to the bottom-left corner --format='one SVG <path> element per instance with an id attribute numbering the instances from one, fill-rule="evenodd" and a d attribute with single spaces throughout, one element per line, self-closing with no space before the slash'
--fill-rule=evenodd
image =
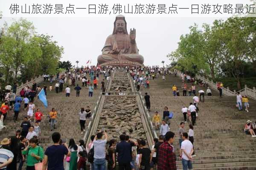
<path id="1" fill-rule="evenodd" d="M 80 87 L 78 84 L 74 87 L 74 90 L 76 90 L 76 96 L 79 97 L 81 88 L 87 88 L 89 96 L 92 96 L 93 89 L 96 89 L 98 86 L 99 74 L 103 74 L 103 76 L 108 79 L 111 73 L 111 69 L 111 67 L 101 69 L 95 66 L 91 66 L 79 69 L 70 69 L 63 74 L 58 73 L 55 78 L 55 92 L 62 92 L 64 84 L 67 84 L 65 93 L 66 96 L 69 97 L 71 90 L 69 89 L 70 81 L 73 83 L 75 83 L 76 81 L 82 81 L 82 87 Z M 25 155 L 28 155 L 26 169 L 35 169 L 34 163 L 38 163 L 38 161 L 41 161 L 43 159 L 42 155 L 44 155 L 43 151 L 41 150 L 42 148 L 38 149 L 38 147 L 36 147 L 35 145 L 38 145 L 40 141 L 40 122 L 42 121 L 43 117 L 47 117 L 47 119 L 49 120 L 49 126 L 51 131 L 57 129 L 56 125 L 58 111 L 52 108 L 49 111 L 49 114 L 43 114 L 41 110 L 35 105 L 35 100 L 37 100 L 37 95 L 41 91 L 41 88 L 44 89 L 45 95 L 47 95 L 47 92 L 52 91 L 52 83 L 54 77 L 52 75 L 49 76 L 46 74 L 43 75 L 43 77 L 44 82 L 42 84 L 46 84 L 49 81 L 49 86 L 43 85 L 42 87 L 40 87 L 35 82 L 33 82 L 32 86 L 26 86 L 22 88 L 19 92 L 17 92 L 17 85 L 15 83 L 13 86 L 11 86 L 11 84 L 8 84 L 7 86 L 5 86 L 4 89 L 0 90 L 1 101 L 3 101 L 3 104 L 1 104 L 0 107 L 0 130 L 6 128 L 4 124 L 6 124 L 6 121 L 10 120 L 6 120 L 7 115 L 8 117 L 13 115 L 13 120 L 15 124 L 17 124 L 18 129 L 16 131 L 16 136 L 9 136 L 9 138 L 4 138 L 1 142 L 1 149 L 6 149 L 2 150 L 3 153 L 0 153 L 0 159 L 2 158 L 1 156 L 3 156 L 4 159 L 0 161 L 1 163 L 3 163 L 0 164 L 1 170 L 21 170 L 24 159 L 26 157 Z M 93 86 L 90 81 L 93 82 Z M 101 84 L 102 89 L 104 89 L 104 80 Z M 72 85 L 73 84 L 71 84 L 71 86 Z M 21 106 L 21 104 L 23 106 Z M 20 119 L 19 113 L 22 114 L 23 117 L 23 121 L 21 124 L 17 123 L 17 121 Z M 83 134 L 85 131 L 85 119 L 90 118 L 90 116 L 91 110 L 89 106 L 86 109 L 81 108 L 81 112 L 79 112 L 81 134 Z M 38 152 L 36 152 L 36 150 Z M 31 157 L 32 153 L 35 155 L 32 155 Z M 4 163 L 5 161 L 6 163 Z M 19 165 L 17 165 L 17 162 L 19 162 Z"/>

